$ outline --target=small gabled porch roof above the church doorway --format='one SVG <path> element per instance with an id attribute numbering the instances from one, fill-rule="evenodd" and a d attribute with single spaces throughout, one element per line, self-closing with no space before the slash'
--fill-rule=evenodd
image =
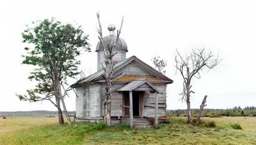
<path id="1" fill-rule="evenodd" d="M 147 79 L 135 79 L 128 84 L 124 85 L 123 87 L 120 87 L 117 89 L 117 91 L 132 91 L 139 86 L 143 85 L 146 83 L 148 86 L 150 86 L 153 90 L 155 90 L 157 93 L 160 93 L 159 90 L 150 82 L 147 81 Z"/>

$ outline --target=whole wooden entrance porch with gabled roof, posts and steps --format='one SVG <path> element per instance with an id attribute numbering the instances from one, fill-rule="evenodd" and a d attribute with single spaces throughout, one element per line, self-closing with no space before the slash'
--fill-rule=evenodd
<path id="1" fill-rule="evenodd" d="M 123 108 L 121 123 L 130 124 L 131 128 L 141 128 L 158 126 L 158 94 L 159 90 L 146 79 L 135 79 L 132 82 L 117 89 L 117 91 L 123 92 Z M 153 119 L 144 117 L 144 93 L 149 91 L 155 94 L 154 111 L 155 115 Z M 143 127 L 143 128 L 144 128 Z"/>

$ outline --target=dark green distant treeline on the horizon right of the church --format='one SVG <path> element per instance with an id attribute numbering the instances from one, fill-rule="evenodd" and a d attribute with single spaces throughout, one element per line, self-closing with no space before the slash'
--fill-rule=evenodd
<path id="1" fill-rule="evenodd" d="M 191 109 L 192 117 L 197 116 L 199 109 Z M 168 116 L 186 117 L 187 109 L 167 110 Z M 221 117 L 221 116 L 249 116 L 256 117 L 256 107 L 246 106 L 242 109 L 240 106 L 231 109 L 204 109 L 202 117 Z"/>

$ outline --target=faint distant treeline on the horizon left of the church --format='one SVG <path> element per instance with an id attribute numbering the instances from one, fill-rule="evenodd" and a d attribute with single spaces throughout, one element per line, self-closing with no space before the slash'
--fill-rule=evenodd
<path id="1" fill-rule="evenodd" d="M 68 112 L 71 116 L 75 114 L 75 111 Z M 40 116 L 57 116 L 58 111 L 46 111 L 46 110 L 35 110 L 35 111 L 7 111 L 1 112 L 1 115 L 6 117 L 40 117 Z"/>

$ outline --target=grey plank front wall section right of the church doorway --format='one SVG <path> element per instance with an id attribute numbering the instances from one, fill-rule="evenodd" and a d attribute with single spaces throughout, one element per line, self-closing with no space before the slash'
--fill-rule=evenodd
<path id="1" fill-rule="evenodd" d="M 164 84 L 153 84 L 157 89 L 163 93 L 158 94 L 158 104 L 166 104 L 166 85 Z M 144 104 L 150 104 L 155 106 L 155 94 L 150 92 L 144 93 Z M 154 118 L 155 117 L 155 108 L 144 106 L 144 115 L 146 117 Z M 166 106 L 158 105 L 158 117 L 166 115 Z"/>

